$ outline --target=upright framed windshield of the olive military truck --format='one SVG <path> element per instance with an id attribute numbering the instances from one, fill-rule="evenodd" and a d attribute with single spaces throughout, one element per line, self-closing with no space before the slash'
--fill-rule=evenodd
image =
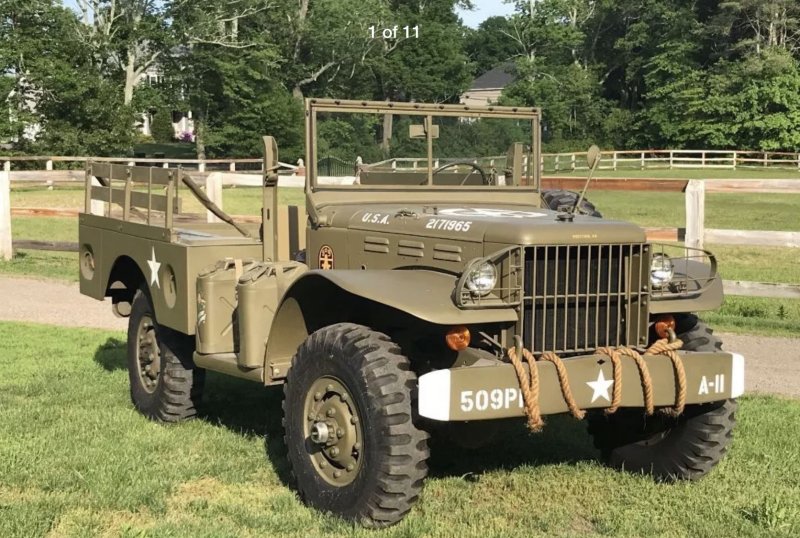
<path id="1" fill-rule="evenodd" d="M 538 186 L 535 109 L 327 101 L 310 105 L 313 187 Z"/>

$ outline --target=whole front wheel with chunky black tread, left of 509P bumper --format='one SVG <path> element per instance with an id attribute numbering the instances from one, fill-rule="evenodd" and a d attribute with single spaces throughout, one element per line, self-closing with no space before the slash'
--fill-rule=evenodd
<path id="1" fill-rule="evenodd" d="M 306 339 L 283 412 L 289 465 L 307 504 L 367 527 L 405 516 L 428 471 L 428 435 L 412 419 L 416 383 L 385 334 L 340 323 Z"/>

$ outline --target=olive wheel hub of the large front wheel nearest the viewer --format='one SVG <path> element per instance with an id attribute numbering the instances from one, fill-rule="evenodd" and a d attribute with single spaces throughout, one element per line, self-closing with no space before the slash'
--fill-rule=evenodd
<path id="1" fill-rule="evenodd" d="M 334 486 L 355 480 L 363 460 L 361 421 L 344 384 L 323 376 L 310 387 L 304 409 L 307 449 L 319 475 Z"/>

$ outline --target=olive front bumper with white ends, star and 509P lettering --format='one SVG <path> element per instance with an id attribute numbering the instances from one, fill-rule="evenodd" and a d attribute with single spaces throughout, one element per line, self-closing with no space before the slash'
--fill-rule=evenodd
<path id="1" fill-rule="evenodd" d="M 737 353 L 679 351 L 686 371 L 686 404 L 736 398 L 744 393 L 744 357 Z M 654 404 L 675 403 L 675 372 L 663 355 L 643 356 L 653 380 Z M 539 407 L 543 415 L 566 413 L 555 366 L 536 363 L 539 370 Z M 602 409 L 611 405 L 613 372 L 604 355 L 564 360 L 570 387 L 578 407 Z M 623 357 L 622 407 L 644 407 L 639 370 Z M 527 371 L 528 365 L 525 364 Z M 522 393 L 514 367 L 466 366 L 436 370 L 419 378 L 419 414 L 434 420 L 490 420 L 525 416 Z"/>

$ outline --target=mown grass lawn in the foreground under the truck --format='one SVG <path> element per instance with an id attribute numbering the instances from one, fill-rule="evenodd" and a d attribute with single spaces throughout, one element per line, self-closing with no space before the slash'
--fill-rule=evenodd
<path id="1" fill-rule="evenodd" d="M 209 376 L 201 418 L 163 426 L 128 398 L 121 333 L 0 323 L 0 536 L 796 536 L 800 400 L 741 400 L 705 479 L 600 465 L 551 417 L 473 453 L 433 448 L 409 517 L 384 531 L 306 508 L 285 485 L 280 390 Z"/>

